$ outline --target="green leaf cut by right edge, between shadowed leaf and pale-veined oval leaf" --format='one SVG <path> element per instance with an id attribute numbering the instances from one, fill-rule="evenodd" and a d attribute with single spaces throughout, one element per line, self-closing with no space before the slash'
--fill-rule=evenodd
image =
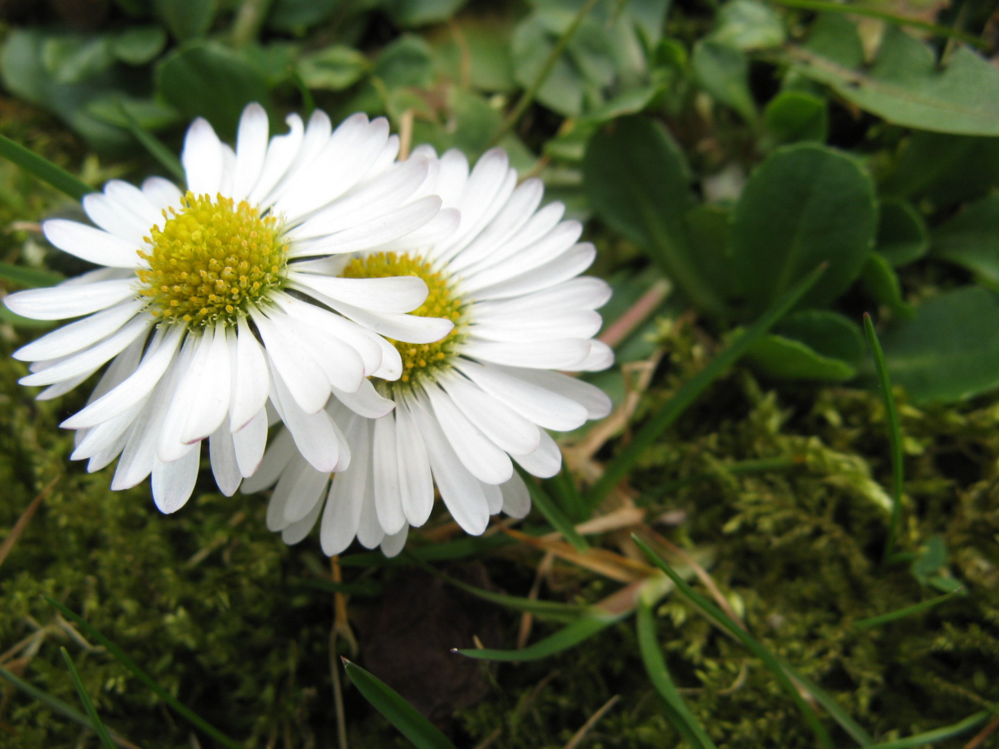
<path id="1" fill-rule="evenodd" d="M 932 255 L 999 288 L 999 195 L 965 208 L 933 231 Z"/>

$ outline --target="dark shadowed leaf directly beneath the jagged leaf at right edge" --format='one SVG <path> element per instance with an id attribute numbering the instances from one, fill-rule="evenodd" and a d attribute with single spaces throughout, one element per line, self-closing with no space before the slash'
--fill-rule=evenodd
<path id="1" fill-rule="evenodd" d="M 891 195 L 933 206 L 964 203 L 999 184 L 999 138 L 913 133 L 883 185 Z"/>

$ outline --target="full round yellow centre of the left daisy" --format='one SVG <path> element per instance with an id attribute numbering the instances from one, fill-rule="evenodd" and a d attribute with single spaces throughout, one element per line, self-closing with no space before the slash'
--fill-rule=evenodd
<path id="1" fill-rule="evenodd" d="M 163 322 L 235 325 L 283 285 L 288 245 L 275 217 L 261 217 L 246 201 L 190 192 L 169 212 L 163 229 L 145 238 L 150 249 L 139 251 L 149 263 L 138 272 L 139 293 Z"/>

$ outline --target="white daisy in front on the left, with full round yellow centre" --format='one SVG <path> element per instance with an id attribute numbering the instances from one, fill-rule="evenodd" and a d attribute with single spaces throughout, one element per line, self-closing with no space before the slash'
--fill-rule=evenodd
<path id="1" fill-rule="evenodd" d="M 437 341 L 449 321 L 404 315 L 427 296 L 417 278 L 344 279 L 318 271 L 331 254 L 405 252 L 449 236 L 457 212 L 423 189 L 433 161 L 397 164 L 384 119 L 354 115 L 333 130 L 297 115 L 268 141 L 250 105 L 236 150 L 196 120 L 182 162 L 187 192 L 160 179 L 109 182 L 83 199 L 96 225 L 52 220 L 49 241 L 103 266 L 50 289 L 5 298 L 35 320 L 83 317 L 19 350 L 23 384 L 72 389 L 112 361 L 78 429 L 72 457 L 88 470 L 118 455 L 112 488 L 152 473 L 164 512 L 190 497 L 200 442 L 232 494 L 260 464 L 270 402 L 305 459 L 339 470 L 350 449 L 325 409 L 331 393 L 366 416 L 393 406 L 369 375 L 403 372 L 394 340 Z M 318 259 L 318 260 L 317 260 Z M 335 312 L 334 312 L 335 311 Z"/>

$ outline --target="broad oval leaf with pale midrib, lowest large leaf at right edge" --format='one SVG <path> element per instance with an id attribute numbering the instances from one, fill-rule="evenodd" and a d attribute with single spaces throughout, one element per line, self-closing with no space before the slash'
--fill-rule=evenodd
<path id="1" fill-rule="evenodd" d="M 927 300 L 881 335 L 888 372 L 916 403 L 953 402 L 999 386 L 999 297 L 963 287 Z"/>

